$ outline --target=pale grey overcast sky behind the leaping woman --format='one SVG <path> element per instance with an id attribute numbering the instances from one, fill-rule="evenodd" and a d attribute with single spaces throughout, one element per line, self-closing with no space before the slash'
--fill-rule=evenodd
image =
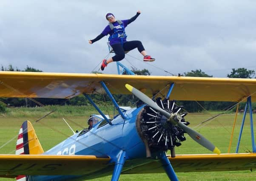
<path id="1" fill-rule="evenodd" d="M 232 68 L 256 70 L 255 0 L 0 0 L 0 65 L 97 71 L 108 55 L 108 37 L 92 45 L 88 40 L 108 25 L 105 14 L 129 19 L 138 10 L 125 29 L 128 41 L 140 40 L 156 61 L 145 63 L 132 50 L 121 61 L 127 67 L 151 75 L 202 69 L 213 77 L 226 77 Z M 116 74 L 116 64 L 103 73 Z"/>

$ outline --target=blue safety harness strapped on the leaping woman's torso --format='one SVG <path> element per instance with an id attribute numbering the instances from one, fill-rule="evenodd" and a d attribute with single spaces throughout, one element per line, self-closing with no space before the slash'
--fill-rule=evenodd
<path id="1" fill-rule="evenodd" d="M 114 30 L 114 33 L 108 37 L 108 41 L 110 41 L 113 38 L 120 38 L 121 39 L 121 45 L 123 45 L 123 39 L 127 37 L 125 34 L 125 27 L 122 24 L 121 20 L 117 20 L 119 26 L 114 27 L 113 23 L 108 23 L 109 28 L 111 30 Z"/>

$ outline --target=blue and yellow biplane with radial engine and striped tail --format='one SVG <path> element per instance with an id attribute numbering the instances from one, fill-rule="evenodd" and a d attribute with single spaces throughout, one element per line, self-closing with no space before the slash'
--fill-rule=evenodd
<path id="1" fill-rule="evenodd" d="M 32 124 L 25 121 L 16 155 L 0 155 L 0 176 L 64 181 L 112 175 L 111 180 L 117 181 L 120 174 L 165 172 L 176 181 L 175 172 L 254 170 L 251 102 L 256 101 L 255 93 L 256 79 L 0 72 L 0 97 L 70 99 L 84 95 L 103 117 L 90 130 L 75 133 L 48 151 L 43 151 Z M 91 94 L 107 94 L 118 114 L 106 117 Z M 114 94 L 134 94 L 141 101 L 135 108 L 122 109 Z M 247 100 L 245 114 L 250 109 L 253 153 L 220 154 L 217 142 L 213 140 L 213 145 L 188 126 L 187 112 L 176 100 Z M 176 155 L 175 146 L 185 141 L 186 134 L 213 153 Z"/>

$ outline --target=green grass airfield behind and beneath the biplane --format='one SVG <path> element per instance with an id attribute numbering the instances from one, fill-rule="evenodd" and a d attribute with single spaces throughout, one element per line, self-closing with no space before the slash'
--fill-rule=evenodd
<path id="1" fill-rule="evenodd" d="M 77 107 L 79 109 L 79 107 Z M 84 108 L 82 108 L 84 109 Z M 75 110 L 75 109 L 74 109 Z M 86 110 L 86 109 L 85 109 Z M 9 110 L 8 114 L 0 115 L 0 153 L 1 154 L 14 154 L 17 134 L 20 129 L 20 125 L 24 120 L 30 120 L 33 123 L 37 136 L 40 140 L 44 150 L 48 150 L 57 143 L 63 141 L 68 136 L 71 136 L 72 132 L 68 126 L 63 122 L 62 117 L 67 120 L 72 120 L 76 124 L 69 121 L 71 127 L 74 130 L 81 130 L 85 124 L 86 118 L 94 111 L 85 111 L 85 116 L 81 117 L 80 114 L 71 116 L 72 112 L 68 111 L 56 111 L 53 115 L 40 120 L 38 123 L 34 123 L 35 120 L 48 113 L 49 110 L 44 111 L 26 111 L 26 109 L 17 109 L 15 111 Z M 30 113 L 29 113 L 30 112 Z M 96 111 L 94 112 L 96 113 Z M 55 114 L 55 115 L 54 115 Z M 186 120 L 188 120 L 191 128 L 199 125 L 202 121 L 207 120 L 209 117 L 216 115 L 216 113 L 204 113 L 204 114 L 188 114 Z M 213 142 L 222 153 L 228 152 L 228 144 L 230 140 L 230 134 L 232 130 L 234 114 L 223 114 L 220 117 L 210 121 L 210 123 L 204 125 L 199 129 L 196 128 L 201 134 L 207 137 Z M 28 119 L 26 119 L 28 118 Z M 239 114 L 236 129 L 233 138 L 233 144 L 231 153 L 235 152 L 236 142 L 239 135 L 240 125 L 242 120 L 242 114 Z M 254 123 L 255 125 L 255 123 Z M 54 129 L 58 131 L 54 131 Z M 182 142 L 182 146 L 176 148 L 176 154 L 191 154 L 191 153 L 210 153 L 210 151 L 201 147 L 188 136 L 187 141 Z M 245 127 L 242 134 L 242 140 L 240 143 L 239 153 L 251 151 L 251 136 L 250 136 L 250 121 L 249 115 L 245 120 Z M 181 181 L 255 181 L 256 173 L 248 171 L 232 171 L 232 172 L 208 172 L 208 173 L 177 173 L 179 180 Z M 15 179 L 0 178 L 0 181 L 12 181 Z M 94 181 L 111 180 L 111 176 L 94 179 Z M 168 177 L 165 173 L 161 174 L 134 174 L 134 175 L 121 175 L 121 181 L 165 181 Z"/>

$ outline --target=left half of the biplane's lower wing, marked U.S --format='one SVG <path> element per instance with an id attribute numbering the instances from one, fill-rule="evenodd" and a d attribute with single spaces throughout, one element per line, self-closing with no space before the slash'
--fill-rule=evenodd
<path id="1" fill-rule="evenodd" d="M 0 155 L 0 176 L 85 175 L 106 167 L 110 158 L 74 155 Z"/>

